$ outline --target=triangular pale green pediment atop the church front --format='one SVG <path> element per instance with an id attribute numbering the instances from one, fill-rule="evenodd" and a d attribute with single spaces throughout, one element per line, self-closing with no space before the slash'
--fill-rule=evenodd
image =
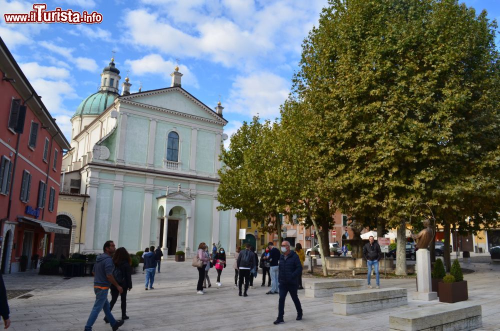
<path id="1" fill-rule="evenodd" d="M 227 121 L 217 115 L 204 103 L 196 99 L 181 87 L 166 87 L 138 92 L 119 97 L 120 101 L 137 106 L 155 108 L 179 116 L 187 116 L 225 125 Z"/>

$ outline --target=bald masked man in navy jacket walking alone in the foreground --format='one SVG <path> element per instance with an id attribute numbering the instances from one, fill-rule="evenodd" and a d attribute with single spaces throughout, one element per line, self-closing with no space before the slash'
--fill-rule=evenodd
<path id="1" fill-rule="evenodd" d="M 302 319 L 302 306 L 297 296 L 298 275 L 302 274 L 302 264 L 297 253 L 290 250 L 290 243 L 288 241 L 281 242 L 281 251 L 283 254 L 279 257 L 278 318 L 276 318 L 274 324 L 284 323 L 284 299 L 288 292 L 290 292 L 291 299 L 295 303 L 295 309 L 297 309 L 296 320 Z"/>

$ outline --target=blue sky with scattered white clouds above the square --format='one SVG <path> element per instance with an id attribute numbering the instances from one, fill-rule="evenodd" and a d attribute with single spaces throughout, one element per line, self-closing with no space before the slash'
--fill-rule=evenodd
<path id="1" fill-rule="evenodd" d="M 460 2 L 500 20 L 500 0 Z M 178 59 L 184 89 L 212 109 L 221 101 L 229 136 L 253 115 L 279 117 L 327 0 L 59 0 L 47 10 L 96 11 L 102 21 L 5 23 L 4 13 L 33 3 L 0 0 L 0 36 L 69 140 L 70 118 L 97 91 L 113 51 L 131 92 L 170 86 Z"/>

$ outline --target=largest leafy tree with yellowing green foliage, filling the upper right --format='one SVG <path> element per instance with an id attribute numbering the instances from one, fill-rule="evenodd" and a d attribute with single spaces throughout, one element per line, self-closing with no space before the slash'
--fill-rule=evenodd
<path id="1" fill-rule="evenodd" d="M 495 214 L 495 28 L 456 0 L 330 0 L 304 40 L 294 92 L 317 184 L 344 212 L 398 226 L 399 256 L 417 202 L 453 215 L 444 224 Z"/>

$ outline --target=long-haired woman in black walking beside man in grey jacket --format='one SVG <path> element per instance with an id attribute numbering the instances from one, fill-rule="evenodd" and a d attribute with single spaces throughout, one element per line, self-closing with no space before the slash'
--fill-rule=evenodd
<path id="1" fill-rule="evenodd" d="M 118 295 L 121 298 L 121 319 L 128 319 L 126 315 L 126 292 L 132 289 L 132 260 L 125 247 L 116 249 L 113 255 L 113 277 L 116 282 L 123 287 L 123 292 L 119 294 L 118 289 L 111 284 L 111 301 L 109 302 L 109 310 L 113 309 L 114 304 L 118 300 Z M 104 321 L 109 323 L 106 317 Z"/>

